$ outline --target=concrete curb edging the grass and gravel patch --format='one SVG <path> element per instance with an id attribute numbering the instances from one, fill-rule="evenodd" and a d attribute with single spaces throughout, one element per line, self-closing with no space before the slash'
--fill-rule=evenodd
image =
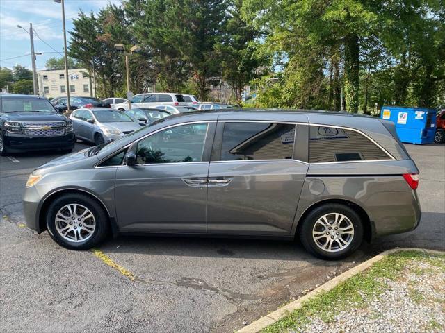
<path id="1" fill-rule="evenodd" d="M 292 312 L 295 309 L 299 309 L 302 307 L 302 304 L 310 300 L 312 298 L 316 298 L 319 293 L 323 293 L 326 291 L 330 291 L 332 288 L 336 287 L 337 284 L 348 280 L 348 278 L 351 278 L 352 276 L 366 270 L 369 268 L 372 264 L 375 262 L 379 262 L 387 255 L 390 255 L 391 253 L 397 253 L 401 251 L 423 251 L 425 253 L 430 253 L 433 255 L 443 255 L 445 252 L 443 251 L 437 251 L 437 250 L 428 250 L 426 248 L 393 248 L 391 250 L 386 250 L 380 255 L 376 255 L 375 257 L 372 257 L 369 260 L 366 260 L 366 262 L 363 262 L 362 264 L 359 264 L 355 266 L 354 268 L 350 268 L 350 270 L 340 274 L 339 276 L 333 278 L 332 280 L 326 282 L 325 284 L 322 284 L 320 287 L 314 289 L 310 293 L 307 293 L 307 295 L 302 296 L 301 298 L 298 298 L 298 300 L 294 300 L 293 302 L 290 302 L 288 305 L 284 305 L 284 307 L 280 307 L 280 309 L 277 309 L 267 316 L 259 318 L 257 321 L 254 321 L 253 323 L 241 328 L 241 330 L 236 331 L 236 333 L 257 333 L 266 328 L 268 325 L 271 325 L 275 323 L 276 321 L 279 321 L 281 318 L 284 318 L 287 314 Z"/>

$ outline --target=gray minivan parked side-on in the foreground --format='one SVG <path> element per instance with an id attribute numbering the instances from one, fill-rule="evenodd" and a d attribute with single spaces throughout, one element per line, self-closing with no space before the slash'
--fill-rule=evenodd
<path id="1" fill-rule="evenodd" d="M 88 249 L 108 234 L 293 239 L 318 257 L 416 228 L 419 170 L 394 124 L 340 112 L 193 112 L 42 165 L 26 225 Z"/>

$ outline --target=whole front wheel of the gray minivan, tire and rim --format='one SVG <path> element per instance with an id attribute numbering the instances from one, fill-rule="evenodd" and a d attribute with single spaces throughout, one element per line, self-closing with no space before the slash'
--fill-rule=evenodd
<path id="1" fill-rule="evenodd" d="M 87 250 L 108 234 L 104 209 L 84 194 L 67 194 L 48 207 L 47 228 L 51 238 L 65 248 Z"/>

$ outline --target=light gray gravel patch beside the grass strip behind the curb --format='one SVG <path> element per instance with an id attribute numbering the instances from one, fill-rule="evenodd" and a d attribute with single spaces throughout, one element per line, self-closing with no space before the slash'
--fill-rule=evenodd
<path id="1" fill-rule="evenodd" d="M 380 278 L 381 293 L 363 294 L 364 305 L 349 302 L 333 320 L 313 316 L 291 332 L 445 332 L 444 281 L 444 268 L 412 260 L 396 280 Z"/>

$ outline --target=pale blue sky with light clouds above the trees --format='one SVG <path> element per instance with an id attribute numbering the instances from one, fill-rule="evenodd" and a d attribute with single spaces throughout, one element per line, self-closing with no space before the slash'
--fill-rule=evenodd
<path id="1" fill-rule="evenodd" d="M 67 32 L 72 30 L 72 20 L 77 17 L 79 10 L 97 12 L 108 2 L 117 5 L 121 3 L 120 0 L 65 0 Z M 41 56 L 36 56 L 37 69 L 44 69 L 45 62 L 49 58 L 63 56 L 60 3 L 52 0 L 0 0 L 0 67 L 12 69 L 19 64 L 31 69 L 29 33 L 17 28 L 18 24 L 29 31 L 30 23 L 41 38 L 40 40 L 34 35 L 34 51 L 43 53 Z M 67 40 L 70 40 L 69 33 Z"/>

